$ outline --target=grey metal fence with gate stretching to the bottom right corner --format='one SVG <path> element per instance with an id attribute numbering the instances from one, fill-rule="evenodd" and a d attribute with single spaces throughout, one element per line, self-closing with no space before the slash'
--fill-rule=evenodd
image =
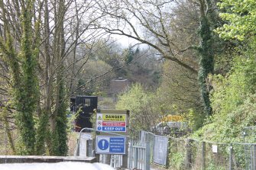
<path id="1" fill-rule="evenodd" d="M 247 139 L 244 140 L 246 142 L 251 141 L 254 136 L 244 138 Z M 90 144 L 88 146 L 92 149 Z M 114 168 L 141 170 L 149 170 L 151 162 L 174 170 L 256 170 L 256 143 L 212 143 L 157 136 L 141 131 L 138 140 L 129 139 L 127 153 L 128 155 L 100 155 L 99 162 L 108 163 Z M 160 162 L 155 158 L 160 158 Z"/>

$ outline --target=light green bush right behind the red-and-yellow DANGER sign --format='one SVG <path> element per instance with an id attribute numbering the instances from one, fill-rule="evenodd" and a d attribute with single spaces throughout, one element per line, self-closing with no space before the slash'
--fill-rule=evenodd
<path id="1" fill-rule="evenodd" d="M 118 96 L 116 109 L 130 111 L 129 130 L 138 134 L 139 130 L 150 130 L 157 123 L 160 114 L 155 111 L 154 94 L 145 91 L 140 84 L 131 85 L 131 89 Z"/>

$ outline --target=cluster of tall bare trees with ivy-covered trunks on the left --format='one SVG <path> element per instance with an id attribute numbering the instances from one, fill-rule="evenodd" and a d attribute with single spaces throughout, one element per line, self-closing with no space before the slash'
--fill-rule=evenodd
<path id="1" fill-rule="evenodd" d="M 81 51 L 92 49 L 98 40 L 92 37 L 102 36 L 100 31 L 90 30 L 92 21 L 100 17 L 91 15 L 95 3 L 0 3 L 0 66 L 4 70 L 1 79 L 5 81 L 1 87 L 8 85 L 2 90 L 5 100 L 14 101 L 11 109 L 19 113 L 15 126 L 21 130 L 23 154 L 41 155 L 49 151 L 50 155 L 66 155 L 66 99 L 73 93 L 66 91 L 66 82 L 73 86 L 72 80 L 83 69 L 74 72 L 76 63 L 86 63 L 89 58 L 90 50 L 83 55 Z M 5 75 L 11 75 L 11 79 Z M 7 111 L 12 114 L 10 109 Z"/>

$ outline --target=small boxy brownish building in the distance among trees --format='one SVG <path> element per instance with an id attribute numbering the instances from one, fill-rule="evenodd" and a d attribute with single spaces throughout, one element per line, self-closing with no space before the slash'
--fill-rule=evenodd
<path id="1" fill-rule="evenodd" d="M 129 88 L 131 82 L 128 79 L 123 79 L 119 77 L 118 79 L 112 79 L 110 81 L 110 95 L 116 95 L 125 92 L 126 89 Z"/>

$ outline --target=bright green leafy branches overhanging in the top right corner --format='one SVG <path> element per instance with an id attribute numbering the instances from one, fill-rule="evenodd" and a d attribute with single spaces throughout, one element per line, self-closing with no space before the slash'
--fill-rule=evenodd
<path id="1" fill-rule="evenodd" d="M 228 24 L 216 29 L 220 37 L 245 40 L 246 37 L 254 36 L 256 30 L 256 2 L 254 0 L 222 0 L 218 5 L 224 11 L 220 17 L 228 21 Z"/>

